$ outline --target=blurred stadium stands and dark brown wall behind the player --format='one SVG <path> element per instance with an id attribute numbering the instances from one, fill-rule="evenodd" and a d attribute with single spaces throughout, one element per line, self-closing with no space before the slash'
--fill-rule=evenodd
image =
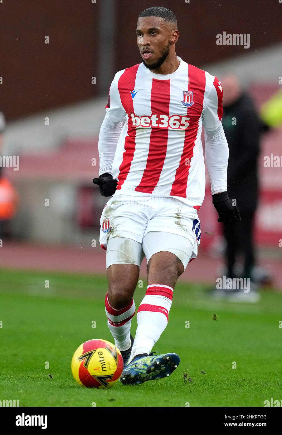
<path id="1" fill-rule="evenodd" d="M 20 156 L 19 171 L 3 168 L 2 176 L 13 184 L 19 199 L 13 219 L 7 224 L 2 218 L 7 225 L 1 268 L 105 271 L 105 252 L 98 240 L 105 198 L 92 184 L 98 176 L 98 132 L 115 72 L 141 62 L 135 25 L 138 14 L 153 3 L 27 0 L 0 5 L 0 110 L 7 120 L 1 154 Z M 161 5 L 177 16 L 181 58 L 219 78 L 236 74 L 258 111 L 281 92 L 278 1 L 271 7 L 256 0 L 163 0 Z M 249 49 L 216 45 L 216 34 L 223 31 L 249 33 Z M 281 104 L 278 111 L 282 118 Z M 280 290 L 282 171 L 264 167 L 263 157 L 280 156 L 281 144 L 282 127 L 275 126 L 262 137 L 255 230 L 259 263 L 269 269 L 273 287 Z M 181 279 L 214 285 L 224 244 L 208 176 L 199 216 L 203 228 L 199 257 Z"/>

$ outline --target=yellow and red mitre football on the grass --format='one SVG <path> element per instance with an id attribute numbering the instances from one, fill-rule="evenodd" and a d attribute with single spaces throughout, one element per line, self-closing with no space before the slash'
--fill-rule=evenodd
<path id="1" fill-rule="evenodd" d="M 85 387 L 111 388 L 121 376 L 121 352 L 107 340 L 89 340 L 76 349 L 72 357 L 72 375 Z"/>

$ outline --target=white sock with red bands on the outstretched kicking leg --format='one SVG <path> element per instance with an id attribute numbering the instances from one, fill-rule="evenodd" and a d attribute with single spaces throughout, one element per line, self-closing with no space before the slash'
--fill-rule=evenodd
<path id="1" fill-rule="evenodd" d="M 150 353 L 168 322 L 173 288 L 164 284 L 150 284 L 137 311 L 138 327 L 130 361 L 135 355 Z"/>

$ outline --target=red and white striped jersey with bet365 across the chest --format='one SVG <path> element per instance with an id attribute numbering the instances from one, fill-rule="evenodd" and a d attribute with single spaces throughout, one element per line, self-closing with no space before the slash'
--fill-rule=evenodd
<path id="1" fill-rule="evenodd" d="M 205 193 L 202 125 L 220 125 L 220 81 L 180 57 L 172 74 L 143 63 L 119 71 L 106 116 L 124 121 L 112 164 L 116 194 L 172 196 L 200 206 Z"/>

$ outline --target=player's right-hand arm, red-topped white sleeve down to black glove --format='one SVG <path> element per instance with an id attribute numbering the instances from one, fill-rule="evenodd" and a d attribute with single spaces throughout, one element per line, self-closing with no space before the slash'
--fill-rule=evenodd
<path id="1" fill-rule="evenodd" d="M 221 124 L 222 87 L 214 77 L 206 106 L 203 110 L 203 127 L 205 129 L 205 156 L 210 176 L 213 205 L 219 214 L 218 221 L 236 224 L 241 220 L 238 208 L 232 204 L 227 193 L 227 165 L 229 149 Z"/>

